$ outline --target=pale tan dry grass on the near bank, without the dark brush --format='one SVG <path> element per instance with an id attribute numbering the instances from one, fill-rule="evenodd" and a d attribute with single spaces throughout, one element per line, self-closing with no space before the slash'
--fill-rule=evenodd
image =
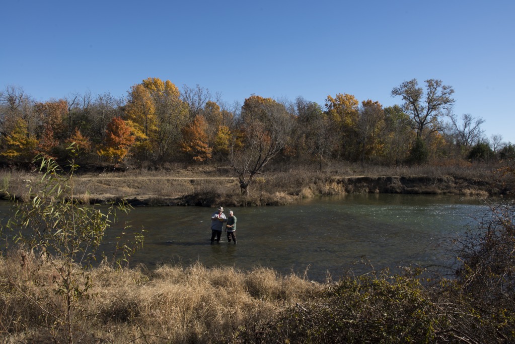
<path id="1" fill-rule="evenodd" d="M 50 322 L 28 299 L 52 300 L 63 307 L 52 290 L 56 271 L 30 253 L 22 266 L 21 254 L 16 251 L 1 259 L 0 335 L 3 342 L 49 341 L 53 333 L 37 324 L 50 326 Z M 200 264 L 154 271 L 116 270 L 103 264 L 91 270 L 91 277 L 89 297 L 76 305 L 81 320 L 75 328 L 83 342 L 225 341 L 238 329 L 265 323 L 323 289 L 267 268 L 238 271 Z"/>

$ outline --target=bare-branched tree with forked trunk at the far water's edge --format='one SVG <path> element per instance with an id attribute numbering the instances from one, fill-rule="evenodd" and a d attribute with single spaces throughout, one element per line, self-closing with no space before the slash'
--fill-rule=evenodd
<path id="1" fill-rule="evenodd" d="M 256 95 L 245 99 L 229 153 L 242 195 L 249 194 L 252 178 L 284 148 L 292 126 L 284 105 Z"/>

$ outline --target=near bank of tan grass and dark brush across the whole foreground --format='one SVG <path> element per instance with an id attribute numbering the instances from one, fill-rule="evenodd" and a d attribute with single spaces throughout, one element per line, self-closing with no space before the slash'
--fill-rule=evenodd
<path id="1" fill-rule="evenodd" d="M 477 288 L 477 276 L 472 276 L 477 270 L 466 283 L 427 281 L 420 272 L 371 270 L 320 284 L 267 268 L 238 271 L 197 264 L 149 271 L 104 264 L 91 270 L 92 288 L 74 307 L 73 337 L 82 343 L 515 340 L 513 290 L 505 293 L 507 299 L 489 303 L 493 294 L 467 286 Z M 65 307 L 53 288 L 55 274 L 52 265 L 25 251 L 2 257 L 2 342 L 66 342 L 66 329 L 50 314 Z"/>

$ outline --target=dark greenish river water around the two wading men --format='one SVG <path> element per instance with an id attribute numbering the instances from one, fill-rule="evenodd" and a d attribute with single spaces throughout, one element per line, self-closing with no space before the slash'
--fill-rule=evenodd
<path id="1" fill-rule="evenodd" d="M 223 204 L 222 204 L 223 205 Z M 3 204 L 0 211 L 6 212 Z M 362 259 L 374 268 L 441 263 L 434 245 L 474 226 L 487 208 L 476 198 L 440 195 L 359 194 L 321 197 L 280 207 L 231 208 L 237 217 L 237 245 L 212 245 L 215 208 L 138 207 L 108 230 L 107 253 L 113 250 L 121 223 L 146 231 L 143 249 L 131 265 L 160 264 L 270 267 L 323 281 L 338 279 Z M 228 215 L 226 208 L 226 215 Z M 354 267 L 354 269 L 359 267 Z M 307 272 L 306 272 L 307 271 Z"/>

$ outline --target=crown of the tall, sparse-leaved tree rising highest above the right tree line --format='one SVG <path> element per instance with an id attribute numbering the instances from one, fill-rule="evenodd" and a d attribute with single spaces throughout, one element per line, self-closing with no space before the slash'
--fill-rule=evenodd
<path id="1" fill-rule="evenodd" d="M 402 97 L 402 111 L 411 119 L 411 127 L 417 137 L 423 138 L 425 131 L 434 132 L 442 129 L 441 118 L 452 112 L 454 89 L 443 85 L 441 80 L 425 80 L 426 90 L 418 87 L 417 79 L 404 81 L 394 87 L 391 96 Z"/>

